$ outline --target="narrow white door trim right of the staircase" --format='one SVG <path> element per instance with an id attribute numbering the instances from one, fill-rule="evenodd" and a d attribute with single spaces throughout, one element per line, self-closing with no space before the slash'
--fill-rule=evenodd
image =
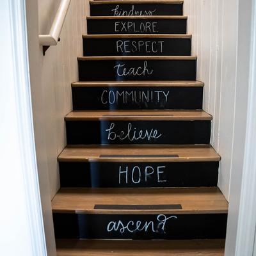
<path id="1" fill-rule="evenodd" d="M 241 203 L 237 225 L 236 255 L 253 255 L 256 228 L 256 1 L 252 8 L 252 42 L 248 113 L 244 150 Z M 254 254 L 255 255 L 255 254 Z"/>

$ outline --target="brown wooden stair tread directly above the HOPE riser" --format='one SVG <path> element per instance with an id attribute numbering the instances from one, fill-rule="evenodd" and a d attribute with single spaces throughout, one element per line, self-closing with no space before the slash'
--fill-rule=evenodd
<path id="1" fill-rule="evenodd" d="M 120 156 L 120 154 L 124 155 L 125 157 Z M 147 155 L 150 157 L 147 157 Z M 156 156 L 154 157 L 154 155 Z M 179 157 L 172 157 L 173 155 L 178 155 Z M 64 148 L 58 157 L 58 161 L 197 162 L 220 161 L 220 155 L 218 155 L 212 147 L 170 147 L 160 145 L 88 145 L 84 147 Z"/>

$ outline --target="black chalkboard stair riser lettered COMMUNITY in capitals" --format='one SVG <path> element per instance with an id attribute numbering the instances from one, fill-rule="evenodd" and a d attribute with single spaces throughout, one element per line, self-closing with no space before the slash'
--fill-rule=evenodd
<path id="1" fill-rule="evenodd" d="M 193 110 L 202 109 L 203 90 L 202 86 L 74 86 L 72 103 L 73 110 Z"/>

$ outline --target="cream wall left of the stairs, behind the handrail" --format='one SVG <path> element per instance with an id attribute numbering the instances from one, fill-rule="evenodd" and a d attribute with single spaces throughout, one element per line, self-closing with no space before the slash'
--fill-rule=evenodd
<path id="1" fill-rule="evenodd" d="M 57 157 L 65 147 L 64 116 L 71 110 L 70 83 L 77 81 L 77 56 L 82 55 L 82 33 L 86 27 L 84 1 L 71 1 L 61 41 L 43 56 L 38 35 L 49 33 L 60 1 L 26 0 L 36 159 L 49 256 L 56 255 L 51 198 L 60 188 Z M 49 17 L 45 16 L 48 11 Z"/>

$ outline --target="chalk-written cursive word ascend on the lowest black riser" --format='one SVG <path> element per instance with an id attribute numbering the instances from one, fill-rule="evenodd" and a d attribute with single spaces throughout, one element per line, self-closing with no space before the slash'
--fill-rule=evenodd
<path id="1" fill-rule="evenodd" d="M 143 232 L 162 232 L 165 233 L 165 225 L 166 221 L 170 219 L 177 219 L 177 216 L 166 217 L 164 214 L 159 214 L 157 216 L 157 221 L 128 221 L 127 223 L 123 223 L 121 220 L 119 221 L 110 221 L 107 226 L 108 232 L 117 231 L 123 234 L 125 231 L 133 233 L 136 231 Z"/>

